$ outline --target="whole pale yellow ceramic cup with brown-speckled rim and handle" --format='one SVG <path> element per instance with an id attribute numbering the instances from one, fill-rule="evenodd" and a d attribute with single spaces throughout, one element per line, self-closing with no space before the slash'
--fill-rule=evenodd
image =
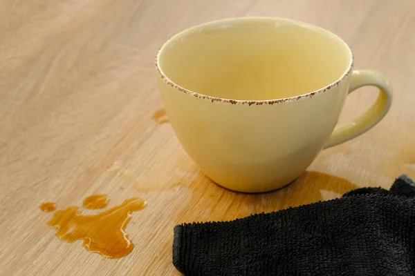
<path id="1" fill-rule="evenodd" d="M 160 92 L 183 148 L 217 184 L 280 188 L 322 150 L 369 130 L 391 106 L 387 79 L 353 70 L 335 34 L 307 23 L 247 17 L 204 23 L 169 39 L 156 59 Z M 347 95 L 377 86 L 365 114 L 337 125 Z"/>

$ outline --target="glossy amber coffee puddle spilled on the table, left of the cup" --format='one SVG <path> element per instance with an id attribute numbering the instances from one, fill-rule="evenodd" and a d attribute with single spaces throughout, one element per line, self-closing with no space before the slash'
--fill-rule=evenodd
<path id="1" fill-rule="evenodd" d="M 95 195 L 86 199 L 84 206 L 87 201 L 87 208 L 105 207 L 109 203 L 106 195 Z M 131 198 L 97 215 L 82 215 L 80 208 L 71 206 L 57 210 L 53 218 L 48 221 L 48 225 L 56 228 L 56 236 L 59 239 L 70 243 L 82 239 L 86 250 L 115 259 L 129 255 L 133 250 L 134 244 L 125 233 L 125 228 L 131 221 L 133 212 L 142 210 L 146 206 L 142 199 Z"/>

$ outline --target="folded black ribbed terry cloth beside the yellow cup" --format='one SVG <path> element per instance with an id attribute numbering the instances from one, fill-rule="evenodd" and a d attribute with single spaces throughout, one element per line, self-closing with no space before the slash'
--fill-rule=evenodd
<path id="1" fill-rule="evenodd" d="M 192 275 L 415 275 L 415 184 L 174 228 L 173 263 Z"/>

